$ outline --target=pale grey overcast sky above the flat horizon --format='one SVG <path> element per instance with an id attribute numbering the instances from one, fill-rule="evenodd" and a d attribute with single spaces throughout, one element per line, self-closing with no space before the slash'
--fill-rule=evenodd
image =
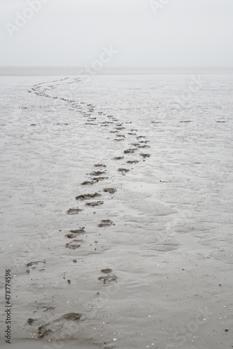
<path id="1" fill-rule="evenodd" d="M 0 0 L 0 23 L 0 66 L 233 66 L 233 0 Z"/>

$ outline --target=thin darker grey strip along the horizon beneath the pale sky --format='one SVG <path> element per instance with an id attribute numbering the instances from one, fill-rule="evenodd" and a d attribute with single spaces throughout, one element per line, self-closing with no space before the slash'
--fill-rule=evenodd
<path id="1" fill-rule="evenodd" d="M 88 73 L 91 71 L 91 73 Z M 232 75 L 233 67 L 91 67 L 0 66 L 1 76 L 41 75 Z"/>

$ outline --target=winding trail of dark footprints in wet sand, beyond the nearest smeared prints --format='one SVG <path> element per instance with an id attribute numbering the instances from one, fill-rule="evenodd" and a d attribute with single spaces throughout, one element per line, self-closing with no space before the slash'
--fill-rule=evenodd
<path id="1" fill-rule="evenodd" d="M 74 84 L 80 81 L 78 78 L 73 79 L 69 81 L 69 77 L 65 77 L 61 80 L 55 80 L 53 82 L 50 82 L 50 85 L 48 85 L 46 88 L 41 89 L 43 87 L 43 84 L 40 83 L 34 85 L 34 87 L 29 91 L 30 93 L 34 93 L 37 96 L 44 96 L 47 98 L 54 98 L 59 99 L 65 103 L 69 103 L 70 107 L 69 110 L 71 111 L 78 111 L 80 114 L 83 114 L 85 118 L 87 118 L 85 125 L 87 126 L 101 126 L 105 127 L 107 130 L 109 128 L 111 135 L 113 135 L 114 142 L 124 142 L 128 141 L 130 146 L 127 149 L 122 150 L 122 155 L 116 156 L 113 158 L 114 161 L 125 161 L 125 156 L 133 156 L 133 154 L 137 155 L 136 151 L 139 149 L 146 149 L 150 148 L 150 145 L 148 144 L 150 141 L 146 140 L 146 136 L 143 135 L 137 135 L 138 130 L 132 128 L 129 125 L 129 129 L 127 131 L 127 128 L 125 127 L 126 124 L 132 124 L 132 121 L 122 123 L 119 119 L 113 117 L 113 115 L 106 115 L 105 111 L 98 112 L 98 119 L 96 116 L 92 116 L 92 114 L 95 111 L 95 106 L 92 104 L 87 103 L 77 103 L 76 101 L 70 100 L 69 98 L 64 97 L 57 97 L 57 96 L 50 96 L 47 91 L 52 91 L 56 88 L 56 86 L 59 86 L 61 84 Z M 65 81 L 65 82 L 64 82 Z M 58 82 L 55 84 L 55 82 Z M 64 83 L 62 83 L 64 82 Z M 53 83 L 53 84 L 51 84 Z M 100 120 L 99 120 L 100 119 Z M 57 123 L 57 125 L 61 126 L 68 126 L 68 123 Z M 36 126 L 36 124 L 31 124 L 31 126 Z M 129 140 L 128 140 L 129 138 Z M 149 158 L 150 154 L 141 152 L 139 153 L 139 157 L 134 157 L 132 159 L 128 159 L 126 163 L 128 165 L 134 165 L 136 163 L 139 163 L 139 159 L 141 158 L 143 161 L 146 161 L 146 158 Z M 125 167 L 119 167 L 118 172 L 122 175 L 127 174 L 129 172 L 129 168 Z M 99 181 L 104 181 L 108 179 L 109 177 L 106 175 L 106 165 L 102 163 L 94 164 L 94 170 L 90 172 L 90 179 L 87 179 L 83 181 L 81 184 L 83 186 L 94 186 L 94 184 L 98 183 Z M 116 189 L 115 188 L 103 188 L 102 191 L 104 193 L 114 194 Z M 87 207 L 97 207 L 100 205 L 104 205 L 104 201 L 100 200 L 101 193 L 85 193 L 80 194 L 76 196 L 76 200 L 78 201 L 85 201 L 85 206 Z M 93 200 L 96 199 L 96 200 Z M 66 211 L 66 214 L 73 215 L 78 214 L 80 211 L 83 211 L 83 209 L 80 209 L 79 207 L 70 208 L 68 211 Z M 108 218 L 102 219 L 99 223 L 99 228 L 106 228 L 110 227 L 111 225 L 115 225 L 113 221 L 111 221 Z M 70 248 L 71 250 L 75 250 L 81 246 L 81 243 L 83 242 L 83 239 L 81 239 L 81 236 L 85 233 L 85 227 L 81 227 L 76 230 L 69 230 L 69 233 L 66 234 L 66 238 L 70 239 L 70 242 L 66 243 L 66 248 Z M 73 262 L 77 262 L 77 260 L 73 260 Z M 110 283 L 110 282 L 117 282 L 117 276 L 113 274 L 112 269 L 102 269 L 101 270 L 101 276 L 99 276 L 99 281 L 102 281 L 104 284 Z M 71 283 L 70 280 L 68 280 L 68 283 Z"/>

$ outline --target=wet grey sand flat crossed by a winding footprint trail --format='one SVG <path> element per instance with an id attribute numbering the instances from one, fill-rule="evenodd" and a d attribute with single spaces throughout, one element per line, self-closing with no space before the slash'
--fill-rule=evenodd
<path id="1" fill-rule="evenodd" d="M 15 348 L 232 348 L 232 78 L 4 79 Z"/>

